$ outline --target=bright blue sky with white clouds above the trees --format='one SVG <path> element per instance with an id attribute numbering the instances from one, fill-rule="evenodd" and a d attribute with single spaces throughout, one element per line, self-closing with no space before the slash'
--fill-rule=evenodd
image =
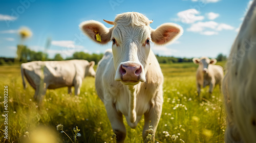
<path id="1" fill-rule="evenodd" d="M 84 36 L 78 25 L 85 20 L 114 20 L 116 14 L 140 12 L 154 20 L 156 29 L 162 23 L 182 26 L 184 34 L 173 44 L 151 45 L 155 54 L 175 57 L 217 57 L 228 55 L 249 0 L 175 0 L 175 1 L 0 1 L 0 57 L 15 57 L 21 43 L 17 32 L 28 27 L 33 35 L 24 41 L 34 51 L 45 51 L 52 58 L 56 53 L 70 57 L 74 52 L 103 53 L 111 48 L 98 45 Z"/>

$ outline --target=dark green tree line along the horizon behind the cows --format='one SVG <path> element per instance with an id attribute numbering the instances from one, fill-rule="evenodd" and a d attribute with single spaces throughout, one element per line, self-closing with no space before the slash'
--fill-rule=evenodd
<path id="1" fill-rule="evenodd" d="M 45 54 L 43 52 L 36 52 L 31 49 L 29 49 L 26 45 L 18 45 L 17 46 L 17 55 L 18 57 L 18 63 L 25 63 L 30 61 L 60 61 L 60 60 L 72 60 L 72 59 L 84 59 L 88 61 L 95 61 L 97 64 L 100 59 L 103 57 L 103 54 L 89 54 L 84 52 L 75 52 L 72 57 L 67 57 L 64 59 L 60 54 L 56 54 L 54 58 L 49 58 L 48 54 Z M 167 57 L 167 56 L 159 56 L 156 55 L 156 58 L 159 63 L 178 63 L 178 62 L 192 62 L 193 58 L 178 58 L 178 57 Z M 225 61 L 227 57 L 223 54 L 219 54 L 217 56 L 217 61 Z M 0 65 L 4 64 L 13 64 L 15 62 L 14 58 L 6 58 L 6 57 L 0 57 Z"/>

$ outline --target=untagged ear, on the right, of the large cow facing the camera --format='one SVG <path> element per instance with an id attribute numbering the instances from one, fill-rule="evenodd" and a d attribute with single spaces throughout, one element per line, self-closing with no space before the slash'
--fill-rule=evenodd
<path id="1" fill-rule="evenodd" d="M 175 41 L 183 34 L 181 26 L 175 23 L 164 23 L 156 30 L 152 30 L 151 39 L 155 44 L 166 44 Z"/>

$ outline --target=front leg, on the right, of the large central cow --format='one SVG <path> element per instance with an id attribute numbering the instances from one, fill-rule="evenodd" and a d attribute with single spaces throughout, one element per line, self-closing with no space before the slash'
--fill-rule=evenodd
<path id="1" fill-rule="evenodd" d="M 162 113 L 162 104 L 161 103 L 155 103 L 154 107 L 151 108 L 151 110 L 144 114 L 144 127 L 143 127 L 143 140 L 144 142 L 147 142 L 146 136 L 148 135 L 148 129 L 149 126 L 153 126 L 153 134 L 155 135 L 157 126 L 161 117 Z M 155 137 L 153 137 L 153 142 L 155 141 Z"/>

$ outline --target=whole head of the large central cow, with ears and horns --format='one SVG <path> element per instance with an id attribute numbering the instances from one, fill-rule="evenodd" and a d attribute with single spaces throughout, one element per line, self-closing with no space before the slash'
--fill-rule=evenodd
<path id="1" fill-rule="evenodd" d="M 106 28 L 98 21 L 89 20 L 82 22 L 80 28 L 99 44 L 112 41 L 115 80 L 125 85 L 146 82 L 151 41 L 155 44 L 166 44 L 183 33 L 183 29 L 174 23 L 164 23 L 154 30 L 150 27 L 153 20 L 150 21 L 137 12 L 118 14 L 114 21 L 104 21 L 114 26 Z M 100 35 L 101 42 L 97 41 L 97 34 Z"/>

